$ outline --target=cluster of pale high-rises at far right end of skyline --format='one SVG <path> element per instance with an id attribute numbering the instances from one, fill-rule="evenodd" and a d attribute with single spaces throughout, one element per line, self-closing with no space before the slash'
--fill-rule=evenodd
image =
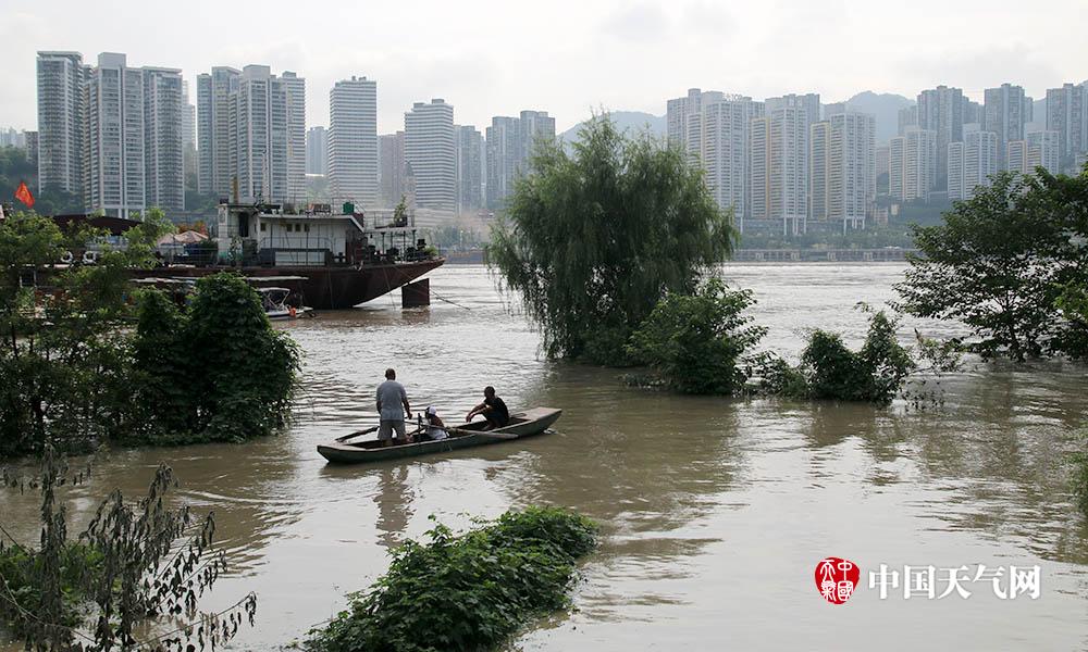
<path id="1" fill-rule="evenodd" d="M 987 88 L 982 104 L 938 86 L 902 109 L 889 143 L 889 193 L 906 201 L 970 199 L 999 171 L 1073 172 L 1088 152 L 1088 83 L 1047 91 L 1046 115 L 1021 86 Z"/>

